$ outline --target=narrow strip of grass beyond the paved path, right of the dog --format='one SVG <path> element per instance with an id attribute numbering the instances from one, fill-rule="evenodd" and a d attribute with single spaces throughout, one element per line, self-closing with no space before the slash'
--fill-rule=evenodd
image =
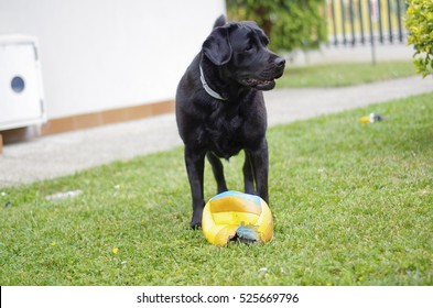
<path id="1" fill-rule="evenodd" d="M 279 88 L 345 87 L 415 75 L 412 62 L 338 63 L 291 67 L 286 65 Z"/>

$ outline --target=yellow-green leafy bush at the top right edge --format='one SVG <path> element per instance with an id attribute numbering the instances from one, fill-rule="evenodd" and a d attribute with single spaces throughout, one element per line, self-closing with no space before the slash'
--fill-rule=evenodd
<path id="1" fill-rule="evenodd" d="M 433 75 L 433 1 L 409 0 L 408 4 L 408 44 L 415 48 L 416 73 L 423 77 Z"/>

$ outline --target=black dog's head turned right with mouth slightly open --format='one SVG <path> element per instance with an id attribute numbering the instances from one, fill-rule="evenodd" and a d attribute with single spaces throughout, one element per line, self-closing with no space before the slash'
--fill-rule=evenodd
<path id="1" fill-rule="evenodd" d="M 269 38 L 255 22 L 216 26 L 203 43 L 204 55 L 241 86 L 271 90 L 285 61 L 268 48 Z"/>

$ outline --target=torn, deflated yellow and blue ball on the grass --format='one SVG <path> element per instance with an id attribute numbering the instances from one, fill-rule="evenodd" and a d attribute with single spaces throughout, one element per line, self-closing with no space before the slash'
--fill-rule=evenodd
<path id="1" fill-rule="evenodd" d="M 212 198 L 203 210 L 203 234 L 214 245 L 230 240 L 268 242 L 273 237 L 272 212 L 259 196 L 226 191 Z"/>

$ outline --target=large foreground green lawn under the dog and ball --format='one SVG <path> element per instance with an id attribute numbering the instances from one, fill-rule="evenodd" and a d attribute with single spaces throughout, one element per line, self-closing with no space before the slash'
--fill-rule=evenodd
<path id="1" fill-rule="evenodd" d="M 433 285 L 432 101 L 270 129 L 267 244 L 217 248 L 188 229 L 182 148 L 0 189 L 11 202 L 0 209 L 0 284 Z M 357 122 L 371 111 L 386 121 Z M 231 189 L 241 164 L 226 165 Z M 209 198 L 209 168 L 205 186 Z"/>

